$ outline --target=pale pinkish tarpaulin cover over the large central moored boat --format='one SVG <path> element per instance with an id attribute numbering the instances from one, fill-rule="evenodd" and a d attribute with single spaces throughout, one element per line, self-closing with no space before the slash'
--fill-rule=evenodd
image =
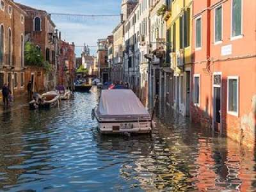
<path id="1" fill-rule="evenodd" d="M 97 113 L 100 118 L 150 118 L 132 90 L 102 90 Z"/>

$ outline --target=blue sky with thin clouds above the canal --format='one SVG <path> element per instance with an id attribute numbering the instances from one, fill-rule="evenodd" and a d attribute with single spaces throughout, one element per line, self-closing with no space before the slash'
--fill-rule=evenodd
<path id="1" fill-rule="evenodd" d="M 122 0 L 15 0 L 49 13 L 70 13 L 83 15 L 118 15 Z M 84 18 L 52 15 L 56 28 L 61 31 L 63 40 L 75 42 L 77 46 L 97 45 L 98 38 L 106 38 L 120 21 L 120 17 Z M 81 54 L 82 47 L 76 48 Z M 94 53 L 96 48 L 91 48 Z"/>

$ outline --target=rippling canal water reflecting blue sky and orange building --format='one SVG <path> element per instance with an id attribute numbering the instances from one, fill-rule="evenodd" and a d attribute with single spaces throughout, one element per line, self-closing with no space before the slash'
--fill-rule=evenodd
<path id="1" fill-rule="evenodd" d="M 252 150 L 171 112 L 152 137 L 102 136 L 97 99 L 1 113 L 0 191 L 256 191 Z"/>

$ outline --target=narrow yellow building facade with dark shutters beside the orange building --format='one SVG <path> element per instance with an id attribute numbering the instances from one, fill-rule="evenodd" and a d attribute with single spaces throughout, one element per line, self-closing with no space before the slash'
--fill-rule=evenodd
<path id="1" fill-rule="evenodd" d="M 173 70 L 172 108 L 189 116 L 191 88 L 192 0 L 171 1 L 165 15 L 169 42 L 170 67 Z"/>

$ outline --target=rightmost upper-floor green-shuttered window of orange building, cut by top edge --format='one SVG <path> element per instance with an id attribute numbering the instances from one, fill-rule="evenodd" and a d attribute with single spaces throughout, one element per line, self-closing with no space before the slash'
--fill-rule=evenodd
<path id="1" fill-rule="evenodd" d="M 242 0 L 232 0 L 232 37 L 242 35 Z"/>

